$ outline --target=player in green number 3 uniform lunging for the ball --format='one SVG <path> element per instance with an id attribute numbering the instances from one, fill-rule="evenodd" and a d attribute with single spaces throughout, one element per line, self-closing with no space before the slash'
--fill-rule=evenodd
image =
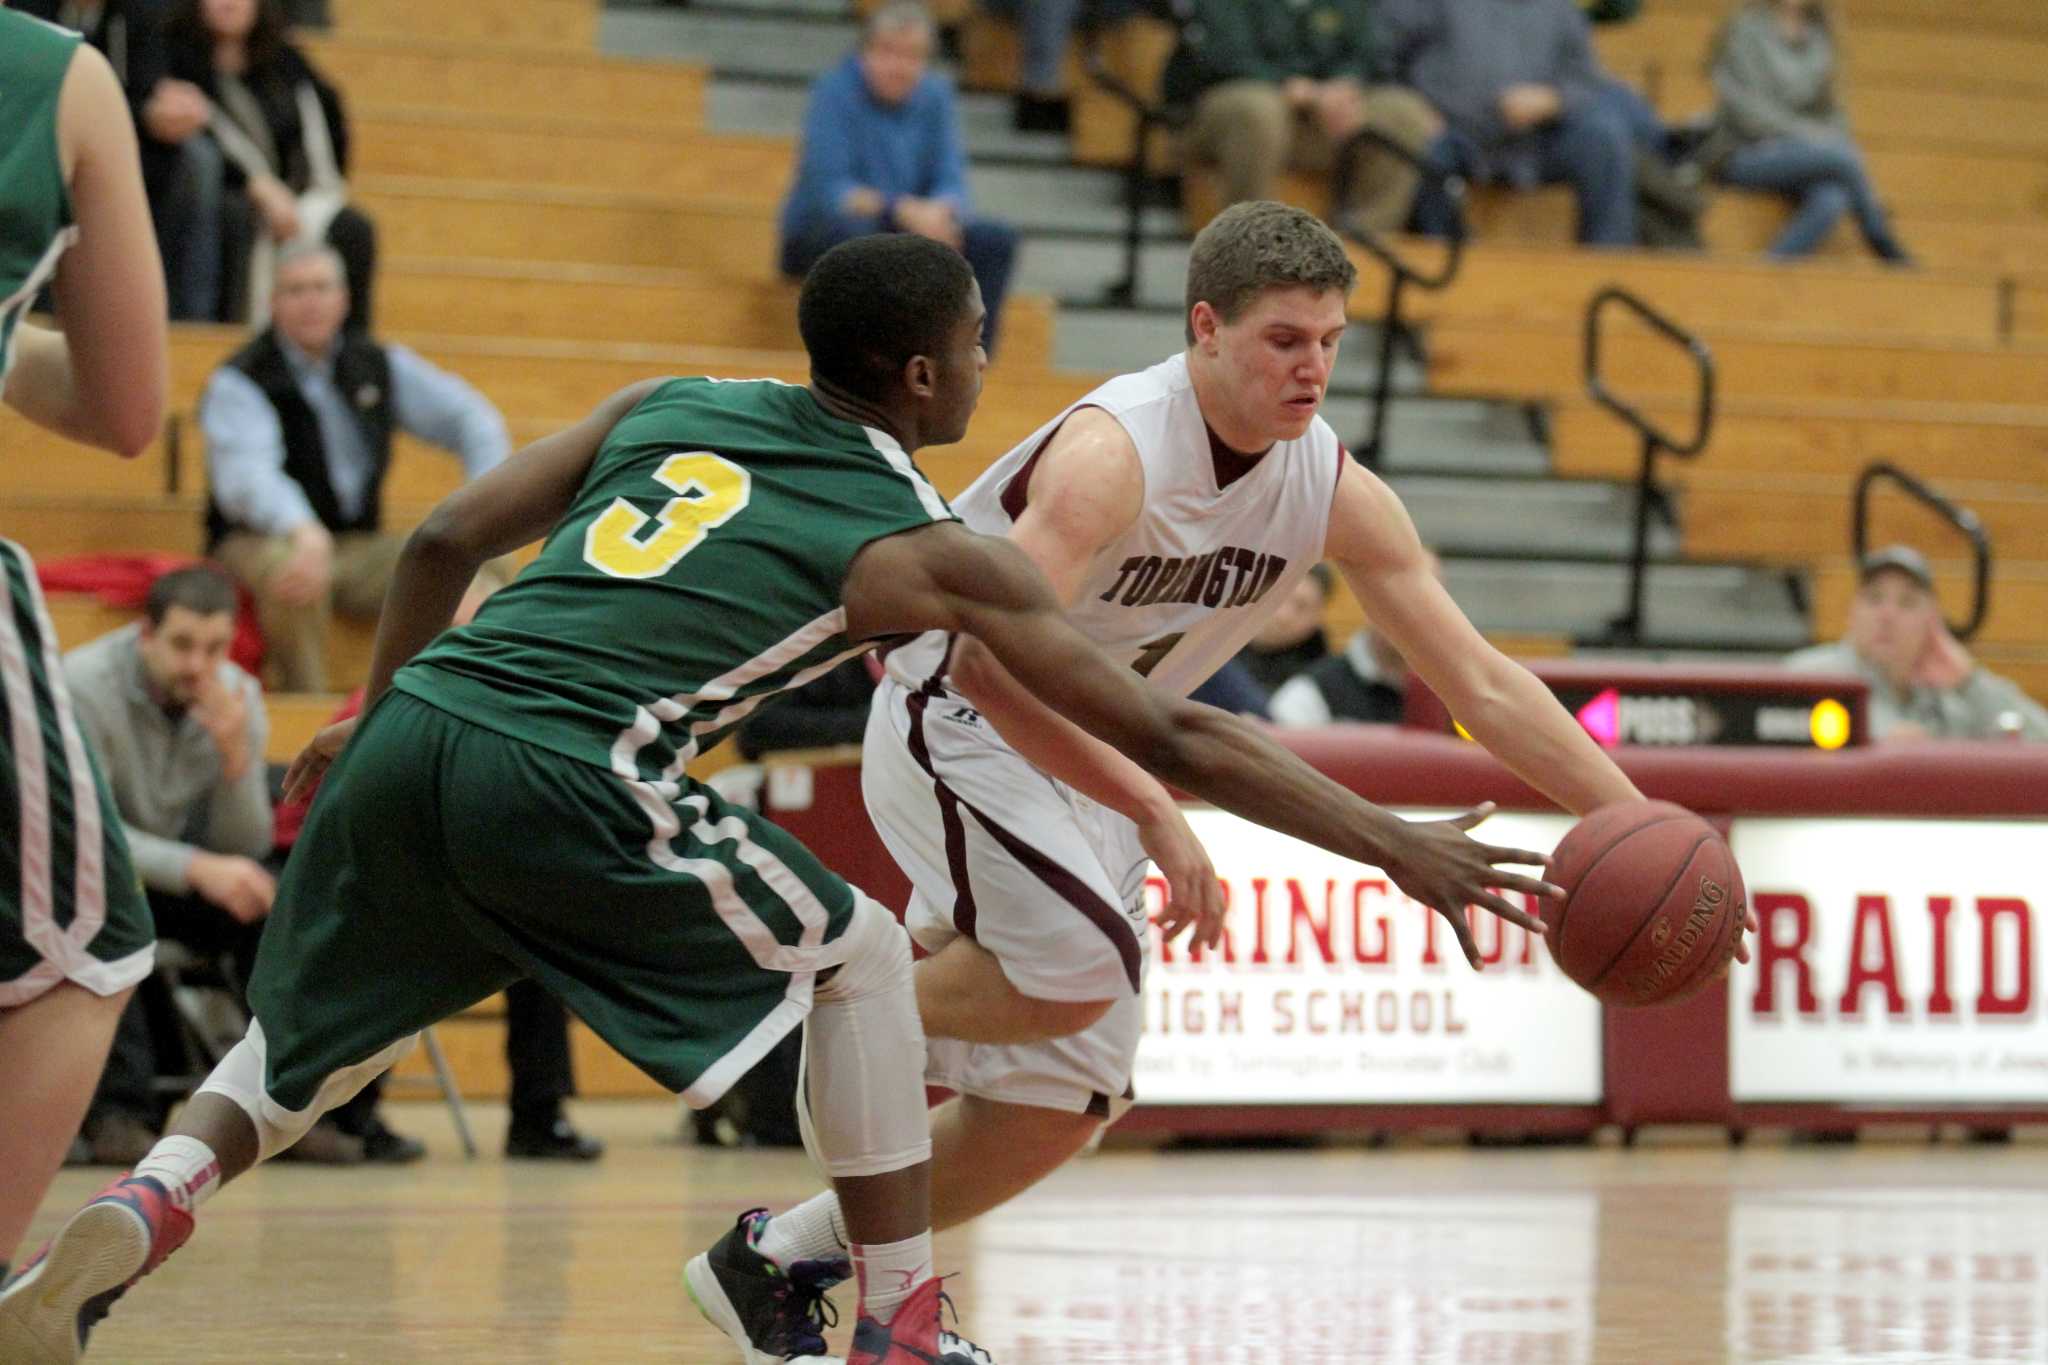
<path id="1" fill-rule="evenodd" d="M 340 753 L 279 886 L 248 1038 L 0 1297 L 0 1355 L 74 1359 L 221 1181 L 526 974 L 696 1105 L 809 1017 L 811 1132 L 860 1279 L 850 1365 L 989 1361 L 938 1320 L 907 935 L 684 776 L 760 702 L 877 643 L 973 634 L 1167 782 L 1452 905 L 1544 890 L 1493 866 L 1540 855 L 1405 825 L 1237 718 L 1147 690 L 1028 559 L 952 518 L 909 452 L 967 430 L 983 313 L 956 252 L 850 241 L 803 287 L 811 387 L 635 385 L 432 512 L 385 604 L 360 726 L 295 765 L 301 784 Z M 477 567 L 537 536 L 539 559 L 442 634 Z M 821 1361 L 825 1342 L 811 1322 L 784 1347 L 768 1359 Z"/>

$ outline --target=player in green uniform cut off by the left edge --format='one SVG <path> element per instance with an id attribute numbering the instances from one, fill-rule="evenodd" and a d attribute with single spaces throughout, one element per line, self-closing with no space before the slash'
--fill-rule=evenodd
<path id="1" fill-rule="evenodd" d="M 23 321 L 45 284 L 57 329 Z M 121 86 L 76 33 L 0 10 L 0 397 L 131 456 L 164 420 L 164 276 Z M 0 485 L 20 458 L 0 438 Z M 154 939 L 35 565 L 0 540 L 0 1281 Z"/>

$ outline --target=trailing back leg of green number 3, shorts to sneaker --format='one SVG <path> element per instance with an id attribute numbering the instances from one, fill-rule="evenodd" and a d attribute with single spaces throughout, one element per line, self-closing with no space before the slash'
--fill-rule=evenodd
<path id="1" fill-rule="evenodd" d="M 0 1293 L 0 1345 L 27 1342 L 20 1359 L 76 1359 L 225 1181 L 305 1136 L 424 1025 L 520 974 L 455 909 L 465 892 L 440 819 L 451 759 L 438 712 L 424 722 L 420 712 L 430 708 L 391 698 L 328 774 L 264 929 L 248 1036 L 135 1171 L 74 1214 Z"/>

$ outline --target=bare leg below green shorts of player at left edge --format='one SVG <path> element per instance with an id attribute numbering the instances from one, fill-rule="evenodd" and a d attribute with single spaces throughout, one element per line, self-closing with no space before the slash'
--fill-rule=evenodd
<path id="1" fill-rule="evenodd" d="M 8 1109 L 0 1124 L 0 1171 L 6 1173 L 0 1181 L 0 1281 L 78 1134 L 129 995 L 94 995 L 59 982 L 27 1005 L 0 1011 L 0 1095 Z"/>

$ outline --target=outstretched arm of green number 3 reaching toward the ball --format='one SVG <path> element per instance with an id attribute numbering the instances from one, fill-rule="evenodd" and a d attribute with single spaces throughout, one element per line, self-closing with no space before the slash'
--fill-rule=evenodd
<path id="1" fill-rule="evenodd" d="M 1167 698 L 1112 663 L 1059 610 L 1014 544 L 946 522 L 877 540 L 854 559 L 846 589 L 854 639 L 907 630 L 973 634 L 1032 694 L 1155 778 L 1268 829 L 1374 864 L 1442 911 L 1479 962 L 1464 907 L 1481 905 L 1540 933 L 1540 921 L 1493 886 L 1556 894 L 1495 864 L 1540 866 L 1540 853 L 1464 835 L 1466 821 L 1405 823 L 1358 798 L 1257 729 L 1208 706 Z"/>

